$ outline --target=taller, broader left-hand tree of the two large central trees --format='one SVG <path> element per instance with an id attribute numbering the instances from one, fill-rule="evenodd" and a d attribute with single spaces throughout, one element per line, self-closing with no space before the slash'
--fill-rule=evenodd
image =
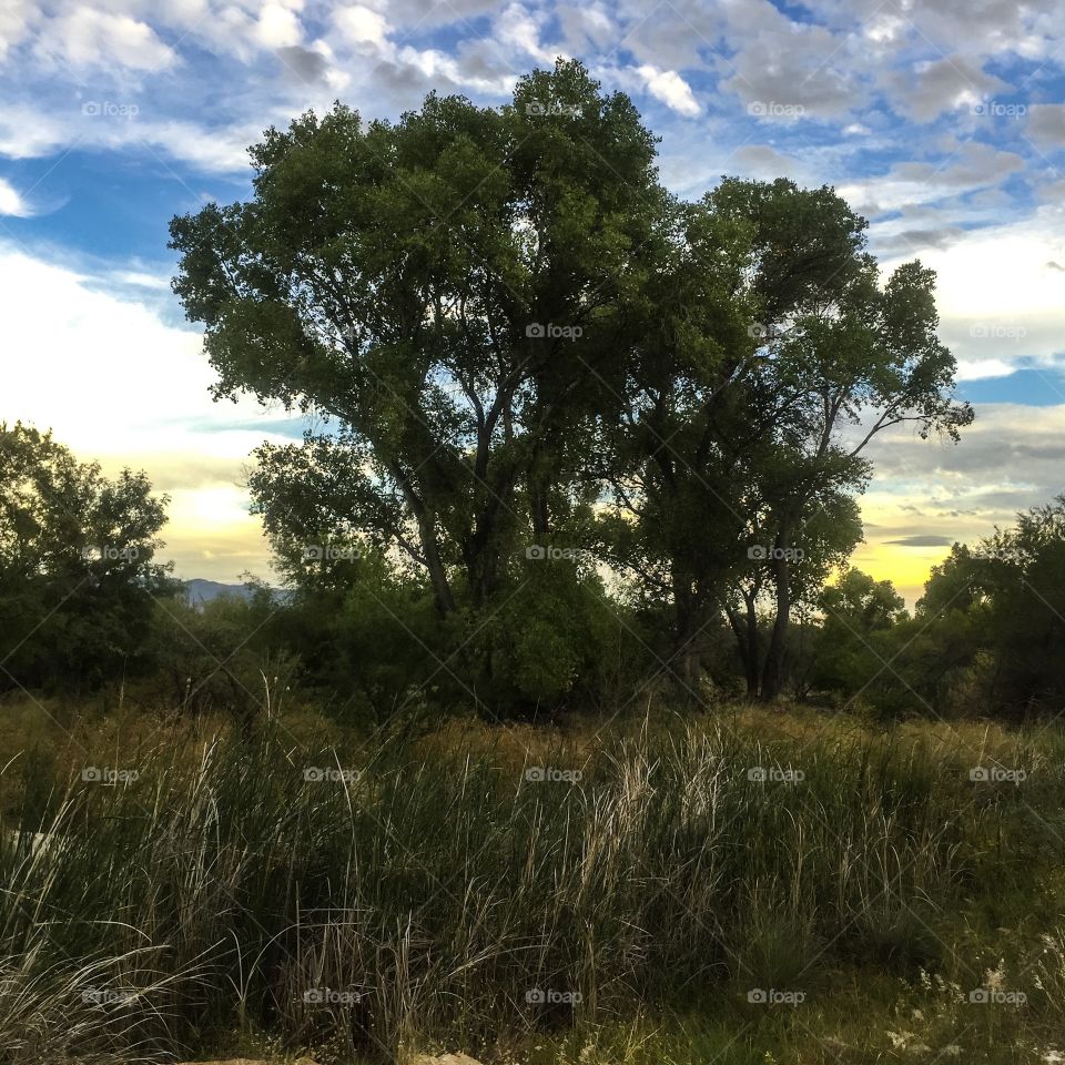
<path id="1" fill-rule="evenodd" d="M 251 201 L 175 219 L 174 287 L 217 396 L 329 419 L 258 450 L 271 535 L 399 552 L 443 613 L 494 601 L 526 546 L 565 537 L 659 240 L 653 159 L 629 100 L 560 61 L 499 109 L 307 114 L 252 150 Z"/>

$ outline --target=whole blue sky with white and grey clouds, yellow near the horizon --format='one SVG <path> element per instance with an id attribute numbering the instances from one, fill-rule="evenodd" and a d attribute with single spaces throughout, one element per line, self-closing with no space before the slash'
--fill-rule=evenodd
<path id="1" fill-rule="evenodd" d="M 1055 0 L 2 0 L 0 420 L 148 470 L 178 576 L 270 579 L 247 456 L 300 423 L 212 402 L 170 219 L 245 199 L 247 145 L 308 108 L 499 104 L 558 55 L 629 93 L 678 194 L 723 174 L 831 184 L 885 272 L 936 271 L 976 419 L 957 446 L 875 439 L 855 565 L 912 602 L 952 542 L 1065 490 Z"/>

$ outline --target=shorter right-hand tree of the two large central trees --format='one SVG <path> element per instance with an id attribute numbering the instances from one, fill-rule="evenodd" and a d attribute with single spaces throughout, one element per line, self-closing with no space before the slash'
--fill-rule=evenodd
<path id="1" fill-rule="evenodd" d="M 864 229 L 831 189 L 727 179 L 687 211 L 661 328 L 633 337 L 606 432 L 615 505 L 637 525 L 622 561 L 671 586 L 686 677 L 696 635 L 726 609 L 749 687 L 775 698 L 794 559 L 809 567 L 820 550 L 799 542 L 803 530 L 862 490 L 878 433 L 913 423 L 957 439 L 972 418 L 951 398 L 931 272 L 909 263 L 881 285 Z M 773 615 L 757 678 L 734 606 L 752 588 Z"/>

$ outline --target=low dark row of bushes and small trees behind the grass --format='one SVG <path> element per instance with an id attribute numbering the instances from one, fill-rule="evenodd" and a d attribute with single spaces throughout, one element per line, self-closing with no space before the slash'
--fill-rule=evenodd
<path id="1" fill-rule="evenodd" d="M 253 582 L 200 604 L 160 560 L 168 500 L 144 474 L 104 477 L 18 423 L 0 424 L 0 693 L 103 692 L 244 720 L 300 698 L 381 721 L 471 706 L 615 713 L 648 697 L 708 704 L 749 690 L 726 611 L 699 633 L 692 680 L 669 657 L 671 604 L 611 585 L 566 549 L 523 556 L 528 577 L 490 615 L 442 616 L 429 582 L 365 539 L 278 560 L 285 589 Z M 845 562 L 797 598 L 789 698 L 878 717 L 1058 712 L 1065 496 L 955 544 L 912 612 L 890 581 Z M 755 602 L 750 638 L 764 647 L 774 625 L 772 605 Z"/>

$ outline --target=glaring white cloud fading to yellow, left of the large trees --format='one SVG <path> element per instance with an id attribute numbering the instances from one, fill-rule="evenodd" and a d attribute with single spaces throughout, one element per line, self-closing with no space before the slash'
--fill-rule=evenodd
<path id="1" fill-rule="evenodd" d="M 67 266 L 0 245 L 6 295 L 0 422 L 54 430 L 108 471 L 143 468 L 171 491 L 166 557 L 184 576 L 236 580 L 261 572 L 266 549 L 241 487 L 251 450 L 282 440 L 254 400 L 215 404 L 201 337 L 145 306 L 95 292 Z"/>

